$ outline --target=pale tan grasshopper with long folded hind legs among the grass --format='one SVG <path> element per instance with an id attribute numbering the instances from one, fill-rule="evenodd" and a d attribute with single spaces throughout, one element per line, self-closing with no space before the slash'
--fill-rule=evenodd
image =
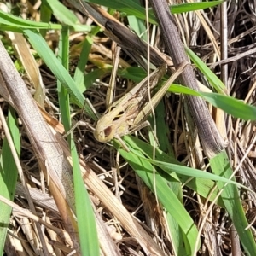
<path id="1" fill-rule="evenodd" d="M 96 123 L 96 129 L 94 131 L 96 140 L 101 143 L 107 143 L 113 138 L 116 138 L 122 146 L 129 151 L 120 137 L 148 125 L 145 121 L 151 113 L 152 108 L 150 104 L 154 107 L 157 106 L 160 99 L 166 94 L 170 84 L 183 72 L 187 64 L 188 62 L 184 61 L 177 68 L 177 71 L 173 73 L 170 79 L 166 81 L 166 84 L 157 91 L 150 102 L 148 102 L 148 79 L 150 90 L 153 90 L 166 74 L 166 65 L 157 68 L 149 75 L 149 78 L 146 77 L 143 79 L 143 81 L 137 84 L 131 91 L 125 94 L 125 96 L 120 98 L 117 102 L 114 102 Z"/>

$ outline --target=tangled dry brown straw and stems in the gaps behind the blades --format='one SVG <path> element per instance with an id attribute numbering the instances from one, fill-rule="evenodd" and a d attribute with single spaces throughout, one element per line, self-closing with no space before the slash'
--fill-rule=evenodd
<path id="1" fill-rule="evenodd" d="M 26 2 L 26 1 L 25 1 Z M 20 13 L 26 17 L 38 17 L 40 9 L 29 8 L 29 3 L 25 3 Z M 71 6 L 67 5 L 72 9 Z M 88 19 L 82 13 L 73 9 L 73 12 L 78 15 L 81 23 L 91 25 L 92 20 Z M 237 99 L 246 101 L 249 104 L 255 102 L 255 3 L 253 0 L 249 1 L 230 1 L 228 3 L 227 24 L 228 34 L 228 61 L 226 61 L 225 69 L 220 69 L 217 53 L 212 48 L 209 38 L 207 38 L 206 28 L 201 26 L 201 20 L 195 14 L 190 12 L 186 15 L 177 15 L 179 24 L 179 31 L 183 42 L 188 44 L 190 49 L 201 57 L 201 60 L 206 61 L 209 66 L 212 66 L 212 71 L 218 76 L 222 74 L 224 84 L 230 93 Z M 203 17 L 207 22 L 208 29 L 213 32 L 216 45 L 219 47 L 223 44 L 220 41 L 219 32 L 222 30 L 220 23 L 221 16 L 220 6 L 214 9 L 208 9 L 203 12 Z M 38 19 L 38 18 L 37 18 Z M 121 19 L 125 25 L 126 18 Z M 59 43 L 59 32 L 49 31 L 46 34 L 47 43 L 54 52 L 57 52 Z M 78 64 L 81 56 L 80 43 L 83 42 L 86 34 L 82 32 L 73 32 L 70 35 L 70 67 L 69 72 L 73 75 L 74 69 Z M 113 49 L 116 45 L 103 32 L 98 32 L 93 38 L 88 63 L 86 65 L 85 73 L 90 73 L 99 67 L 106 68 L 108 65 L 113 65 Z M 3 42 L 9 42 L 6 34 L 2 36 Z M 7 44 L 7 43 L 5 43 Z M 9 44 L 9 43 L 8 43 Z M 160 37 L 160 32 L 156 32 L 154 38 L 154 47 L 164 50 L 164 45 Z M 17 55 L 10 53 L 14 61 Z M 60 119 L 59 102 L 56 90 L 56 79 L 50 72 L 49 68 L 38 59 L 39 70 L 42 75 L 45 86 L 45 110 L 50 116 L 55 119 Z M 120 52 L 119 67 L 136 66 L 131 61 L 131 58 L 125 55 L 125 52 Z M 28 88 L 33 94 L 33 88 L 29 82 L 26 73 L 21 73 L 22 79 L 26 82 Z M 84 96 L 90 99 L 93 106 L 98 113 L 105 111 L 105 100 L 108 84 L 110 81 L 111 71 L 104 73 L 99 79 L 94 81 L 93 85 L 87 90 Z M 197 79 L 202 80 L 201 73 L 197 73 Z M 121 76 L 116 78 L 115 98 L 124 95 L 127 90 L 134 85 L 129 79 L 124 79 Z M 2 102 L 3 112 L 7 113 L 8 103 Z M 183 104 L 183 96 L 172 94 L 164 98 L 165 119 L 170 134 L 170 144 L 173 148 L 173 154 L 177 160 L 182 161 L 184 165 L 191 166 L 198 169 L 207 168 L 207 159 L 199 159 L 195 154 L 191 154 L 189 142 L 186 141 L 187 125 L 184 119 L 185 111 L 187 111 Z M 73 125 L 80 119 L 85 123 L 95 125 L 95 123 L 81 113 L 81 109 L 73 106 Z M 58 124 L 60 125 L 60 124 Z M 241 119 L 233 119 L 230 116 L 226 117 L 226 129 L 228 140 L 230 142 L 227 150 L 230 155 L 230 162 L 235 170 L 238 165 L 239 172 L 236 174 L 236 181 L 245 184 L 249 189 L 254 190 L 256 184 L 255 173 L 255 156 L 256 148 L 253 145 L 252 149 L 246 155 L 247 148 L 251 145 L 254 138 L 254 122 L 242 121 Z M 148 140 L 146 131 L 138 133 L 138 137 L 145 137 Z M 4 133 L 3 133 L 4 137 Z M 20 124 L 20 138 L 21 138 L 21 154 L 20 162 L 26 183 L 29 184 L 32 201 L 36 206 L 36 211 L 40 218 L 43 218 L 49 224 L 52 224 L 58 229 L 65 230 L 62 224 L 62 219 L 55 201 L 49 195 L 47 184 L 47 177 L 44 177 L 38 166 L 38 158 L 34 154 L 32 145 L 27 137 L 26 130 Z M 109 191 L 115 195 L 119 202 L 129 211 L 137 221 L 142 224 L 149 236 L 154 238 L 154 241 L 160 246 L 162 252 L 166 255 L 173 255 L 172 242 L 168 236 L 166 226 L 165 213 L 160 207 L 158 201 L 155 200 L 154 194 L 143 184 L 131 167 L 120 157 L 117 151 L 110 145 L 98 143 L 93 137 L 93 133 L 89 125 L 78 126 L 74 130 L 75 144 L 79 153 L 81 161 L 86 162 L 86 165 L 96 173 L 103 183 L 108 186 Z M 246 157 L 244 158 L 244 156 Z M 243 159 L 244 158 L 244 159 Z M 103 196 L 103 195 L 102 195 Z M 107 196 L 107 195 L 106 195 Z M 132 237 L 120 224 L 120 220 L 113 216 L 109 211 L 109 207 L 102 204 L 102 201 L 90 190 L 90 199 L 93 202 L 96 212 L 102 218 L 102 221 L 108 226 L 108 236 L 115 241 L 119 248 L 119 253 L 122 255 L 145 255 L 143 248 L 138 244 L 137 238 Z M 253 195 L 247 195 L 247 191 L 241 193 L 241 200 L 244 203 L 244 210 L 246 212 L 247 220 L 252 224 L 251 228 L 254 230 L 255 221 L 255 199 Z M 46 202 L 46 203 L 45 203 Z M 28 208 L 26 196 L 22 185 L 17 184 L 15 193 L 15 203 L 20 207 Z M 195 224 L 200 226 L 201 220 L 204 218 L 207 207 L 210 203 L 201 196 L 196 195 L 195 191 L 183 187 L 183 205 L 189 212 L 191 218 L 194 219 Z M 48 247 L 48 250 L 53 255 L 66 255 L 71 252 L 68 245 L 68 238 L 65 241 L 63 236 L 56 236 L 56 234 L 49 228 L 44 230 L 45 241 L 36 235 L 35 224 L 26 216 L 26 212 L 13 211 L 10 219 L 11 231 L 7 236 L 5 243 L 6 255 L 15 255 L 14 252 L 23 251 L 24 255 L 36 255 L 39 253 L 41 244 Z M 41 237 L 42 238 L 42 237 Z M 230 218 L 223 208 L 217 205 L 213 206 L 210 214 L 207 217 L 207 222 L 204 224 L 201 231 L 201 249 L 199 255 L 239 255 L 236 254 L 236 246 L 238 251 L 242 251 L 239 245 L 239 239 L 236 236 L 236 230 L 230 223 Z M 234 251 L 235 249 L 235 251 Z M 42 255 L 42 252 L 41 252 Z M 107 255 L 110 255 L 107 253 Z M 241 255 L 241 254 L 240 254 Z"/>

